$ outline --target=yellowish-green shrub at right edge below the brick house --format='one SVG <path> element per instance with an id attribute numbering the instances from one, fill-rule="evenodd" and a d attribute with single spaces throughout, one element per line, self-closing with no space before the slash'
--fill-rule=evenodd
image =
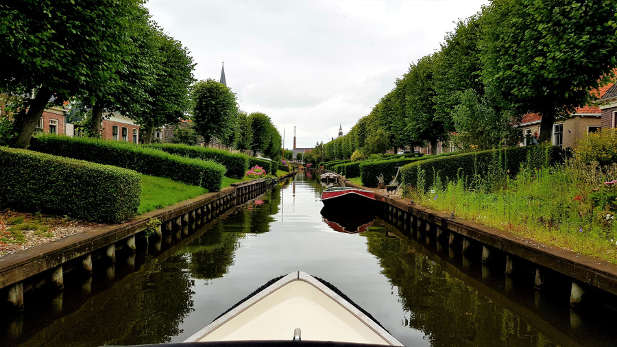
<path id="1" fill-rule="evenodd" d="M 580 163 L 597 161 L 600 165 L 617 163 L 617 132 L 615 129 L 601 129 L 579 140 L 579 146 L 574 149 L 574 160 Z"/>

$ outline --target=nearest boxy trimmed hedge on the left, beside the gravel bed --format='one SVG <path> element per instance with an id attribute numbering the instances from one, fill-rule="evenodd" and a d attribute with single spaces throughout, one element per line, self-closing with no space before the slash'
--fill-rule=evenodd
<path id="1" fill-rule="evenodd" d="M 140 197 L 135 171 L 0 147 L 0 200 L 12 208 L 120 223 L 137 214 Z"/>

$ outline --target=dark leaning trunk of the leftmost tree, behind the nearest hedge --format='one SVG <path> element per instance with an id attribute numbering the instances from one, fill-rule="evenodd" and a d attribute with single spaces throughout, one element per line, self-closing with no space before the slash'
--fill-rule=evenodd
<path id="1" fill-rule="evenodd" d="M 47 102 L 53 96 L 53 92 L 48 88 L 41 87 L 36 93 L 36 97 L 29 104 L 26 112 L 19 112 L 15 117 L 14 130 L 17 132 L 14 147 L 27 149 L 30 144 L 30 138 L 34 134 L 34 129 L 40 117 L 43 116 L 43 111 L 47 106 Z"/>

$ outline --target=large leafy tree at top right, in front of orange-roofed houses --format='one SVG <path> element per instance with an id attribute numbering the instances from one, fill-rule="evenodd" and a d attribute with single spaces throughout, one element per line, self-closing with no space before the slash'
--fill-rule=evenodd
<path id="1" fill-rule="evenodd" d="M 484 17 L 483 81 L 519 112 L 542 115 L 540 142 L 617 65 L 614 0 L 493 0 Z"/>

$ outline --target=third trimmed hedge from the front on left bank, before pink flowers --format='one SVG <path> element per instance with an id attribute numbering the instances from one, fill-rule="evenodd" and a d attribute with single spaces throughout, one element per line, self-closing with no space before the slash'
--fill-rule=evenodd
<path id="1" fill-rule="evenodd" d="M 178 156 L 186 156 L 188 158 L 214 160 L 227 168 L 226 176 L 231 178 L 243 178 L 246 171 L 248 171 L 249 160 L 246 154 L 231 153 L 223 149 L 172 145 L 169 143 L 152 143 L 143 147 L 160 149 L 169 154 L 177 154 Z"/>

